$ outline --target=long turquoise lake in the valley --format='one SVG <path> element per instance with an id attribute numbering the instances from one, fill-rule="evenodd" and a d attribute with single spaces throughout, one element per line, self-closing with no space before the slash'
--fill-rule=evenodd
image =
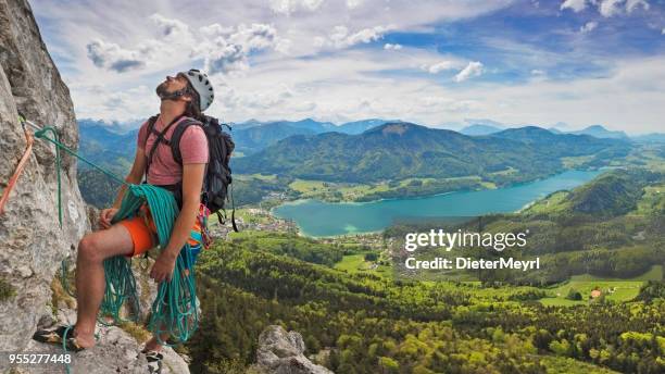
<path id="1" fill-rule="evenodd" d="M 424 198 L 371 202 L 298 200 L 273 209 L 278 217 L 293 220 L 302 234 L 334 236 L 381 230 L 403 217 L 476 216 L 514 212 L 561 189 L 577 187 L 601 171 L 567 171 L 505 188 L 456 191 Z"/>

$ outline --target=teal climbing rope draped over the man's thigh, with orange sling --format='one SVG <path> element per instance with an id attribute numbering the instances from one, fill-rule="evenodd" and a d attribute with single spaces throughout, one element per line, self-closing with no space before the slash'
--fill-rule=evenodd
<path id="1" fill-rule="evenodd" d="M 118 212 L 114 215 L 112 222 L 116 223 L 121 220 L 131 217 L 137 214 L 139 208 L 147 203 L 153 214 L 153 220 L 156 226 L 159 244 L 161 248 L 165 248 L 171 238 L 171 232 L 178 216 L 178 205 L 173 197 L 173 194 L 166 189 L 151 185 L 134 185 L 123 180 L 112 172 L 95 164 L 77 152 L 63 145 L 58 138 L 58 132 L 53 126 L 40 127 L 30 121 L 27 121 L 23 115 L 18 116 L 18 121 L 24 128 L 26 140 L 28 142 L 21 162 L 16 166 L 14 175 L 2 194 L 0 200 L 0 212 L 7 200 L 11 189 L 16 183 L 22 173 L 25 163 L 32 152 L 33 137 L 30 136 L 26 125 L 36 129 L 35 137 L 47 140 L 55 145 L 55 165 L 58 173 L 58 219 L 62 228 L 63 209 L 62 209 L 62 161 L 60 150 L 76 157 L 78 160 L 89 164 L 96 170 L 102 172 L 113 180 L 127 186 L 127 191 L 123 198 L 123 202 Z M 49 137 L 49 134 L 51 135 Z M 63 260 L 64 265 L 64 260 Z M 105 275 L 105 292 L 100 307 L 100 316 L 111 316 L 113 324 L 125 322 L 121 317 L 121 310 L 124 304 L 130 302 L 130 308 L 135 312 L 131 321 L 137 321 L 140 314 L 140 306 L 136 289 L 136 279 L 131 273 L 131 260 L 125 255 L 116 255 L 104 260 Z M 193 257 L 189 242 L 186 242 L 176 259 L 173 276 L 168 282 L 161 282 L 158 290 L 158 296 L 152 303 L 149 329 L 156 337 L 158 342 L 162 346 L 173 346 L 188 340 L 198 328 L 199 315 L 197 304 L 196 280 L 193 271 Z M 66 280 L 66 267 L 63 266 L 62 279 Z M 68 291 L 68 287 L 64 287 Z M 103 325 L 109 325 L 105 321 L 98 316 L 98 321 Z M 162 335 L 168 334 L 167 339 L 163 339 Z M 63 346 L 66 350 L 66 347 Z M 67 373 L 70 371 L 68 366 Z"/>

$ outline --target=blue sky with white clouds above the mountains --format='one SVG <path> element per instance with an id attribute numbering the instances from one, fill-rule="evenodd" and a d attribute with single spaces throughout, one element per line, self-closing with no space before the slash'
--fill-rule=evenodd
<path id="1" fill-rule="evenodd" d="M 227 121 L 402 119 L 664 132 L 665 0 L 32 2 L 78 117 L 212 76 Z"/>

